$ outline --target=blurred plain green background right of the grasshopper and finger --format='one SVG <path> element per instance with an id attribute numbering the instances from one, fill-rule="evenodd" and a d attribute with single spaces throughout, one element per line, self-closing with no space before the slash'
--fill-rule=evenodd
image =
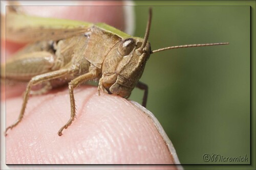
<path id="1" fill-rule="evenodd" d="M 250 7 L 155 5 L 163 4 L 151 5 L 152 50 L 230 44 L 152 54 L 140 79 L 149 87 L 147 109 L 158 118 L 182 164 L 249 164 Z M 135 5 L 135 36 L 143 37 L 149 7 Z M 135 89 L 130 99 L 141 103 L 142 96 Z M 247 155 L 248 162 L 205 162 L 204 154 Z"/>

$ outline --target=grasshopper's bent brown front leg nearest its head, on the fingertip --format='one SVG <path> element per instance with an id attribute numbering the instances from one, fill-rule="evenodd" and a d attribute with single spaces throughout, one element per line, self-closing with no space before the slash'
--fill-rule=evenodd
<path id="1" fill-rule="evenodd" d="M 75 116 L 76 116 L 74 88 L 76 88 L 77 86 L 81 85 L 84 82 L 87 82 L 88 80 L 92 80 L 92 79 L 98 77 L 99 73 L 100 73 L 100 71 L 98 69 L 96 69 L 94 66 L 90 66 L 88 73 L 81 75 L 81 76 L 73 79 L 71 82 L 69 82 L 71 115 L 70 115 L 70 119 L 68 120 L 68 122 L 59 129 L 59 131 L 58 131 L 59 136 L 62 135 L 63 129 L 67 129 L 72 124 L 72 122 L 74 121 Z"/>

